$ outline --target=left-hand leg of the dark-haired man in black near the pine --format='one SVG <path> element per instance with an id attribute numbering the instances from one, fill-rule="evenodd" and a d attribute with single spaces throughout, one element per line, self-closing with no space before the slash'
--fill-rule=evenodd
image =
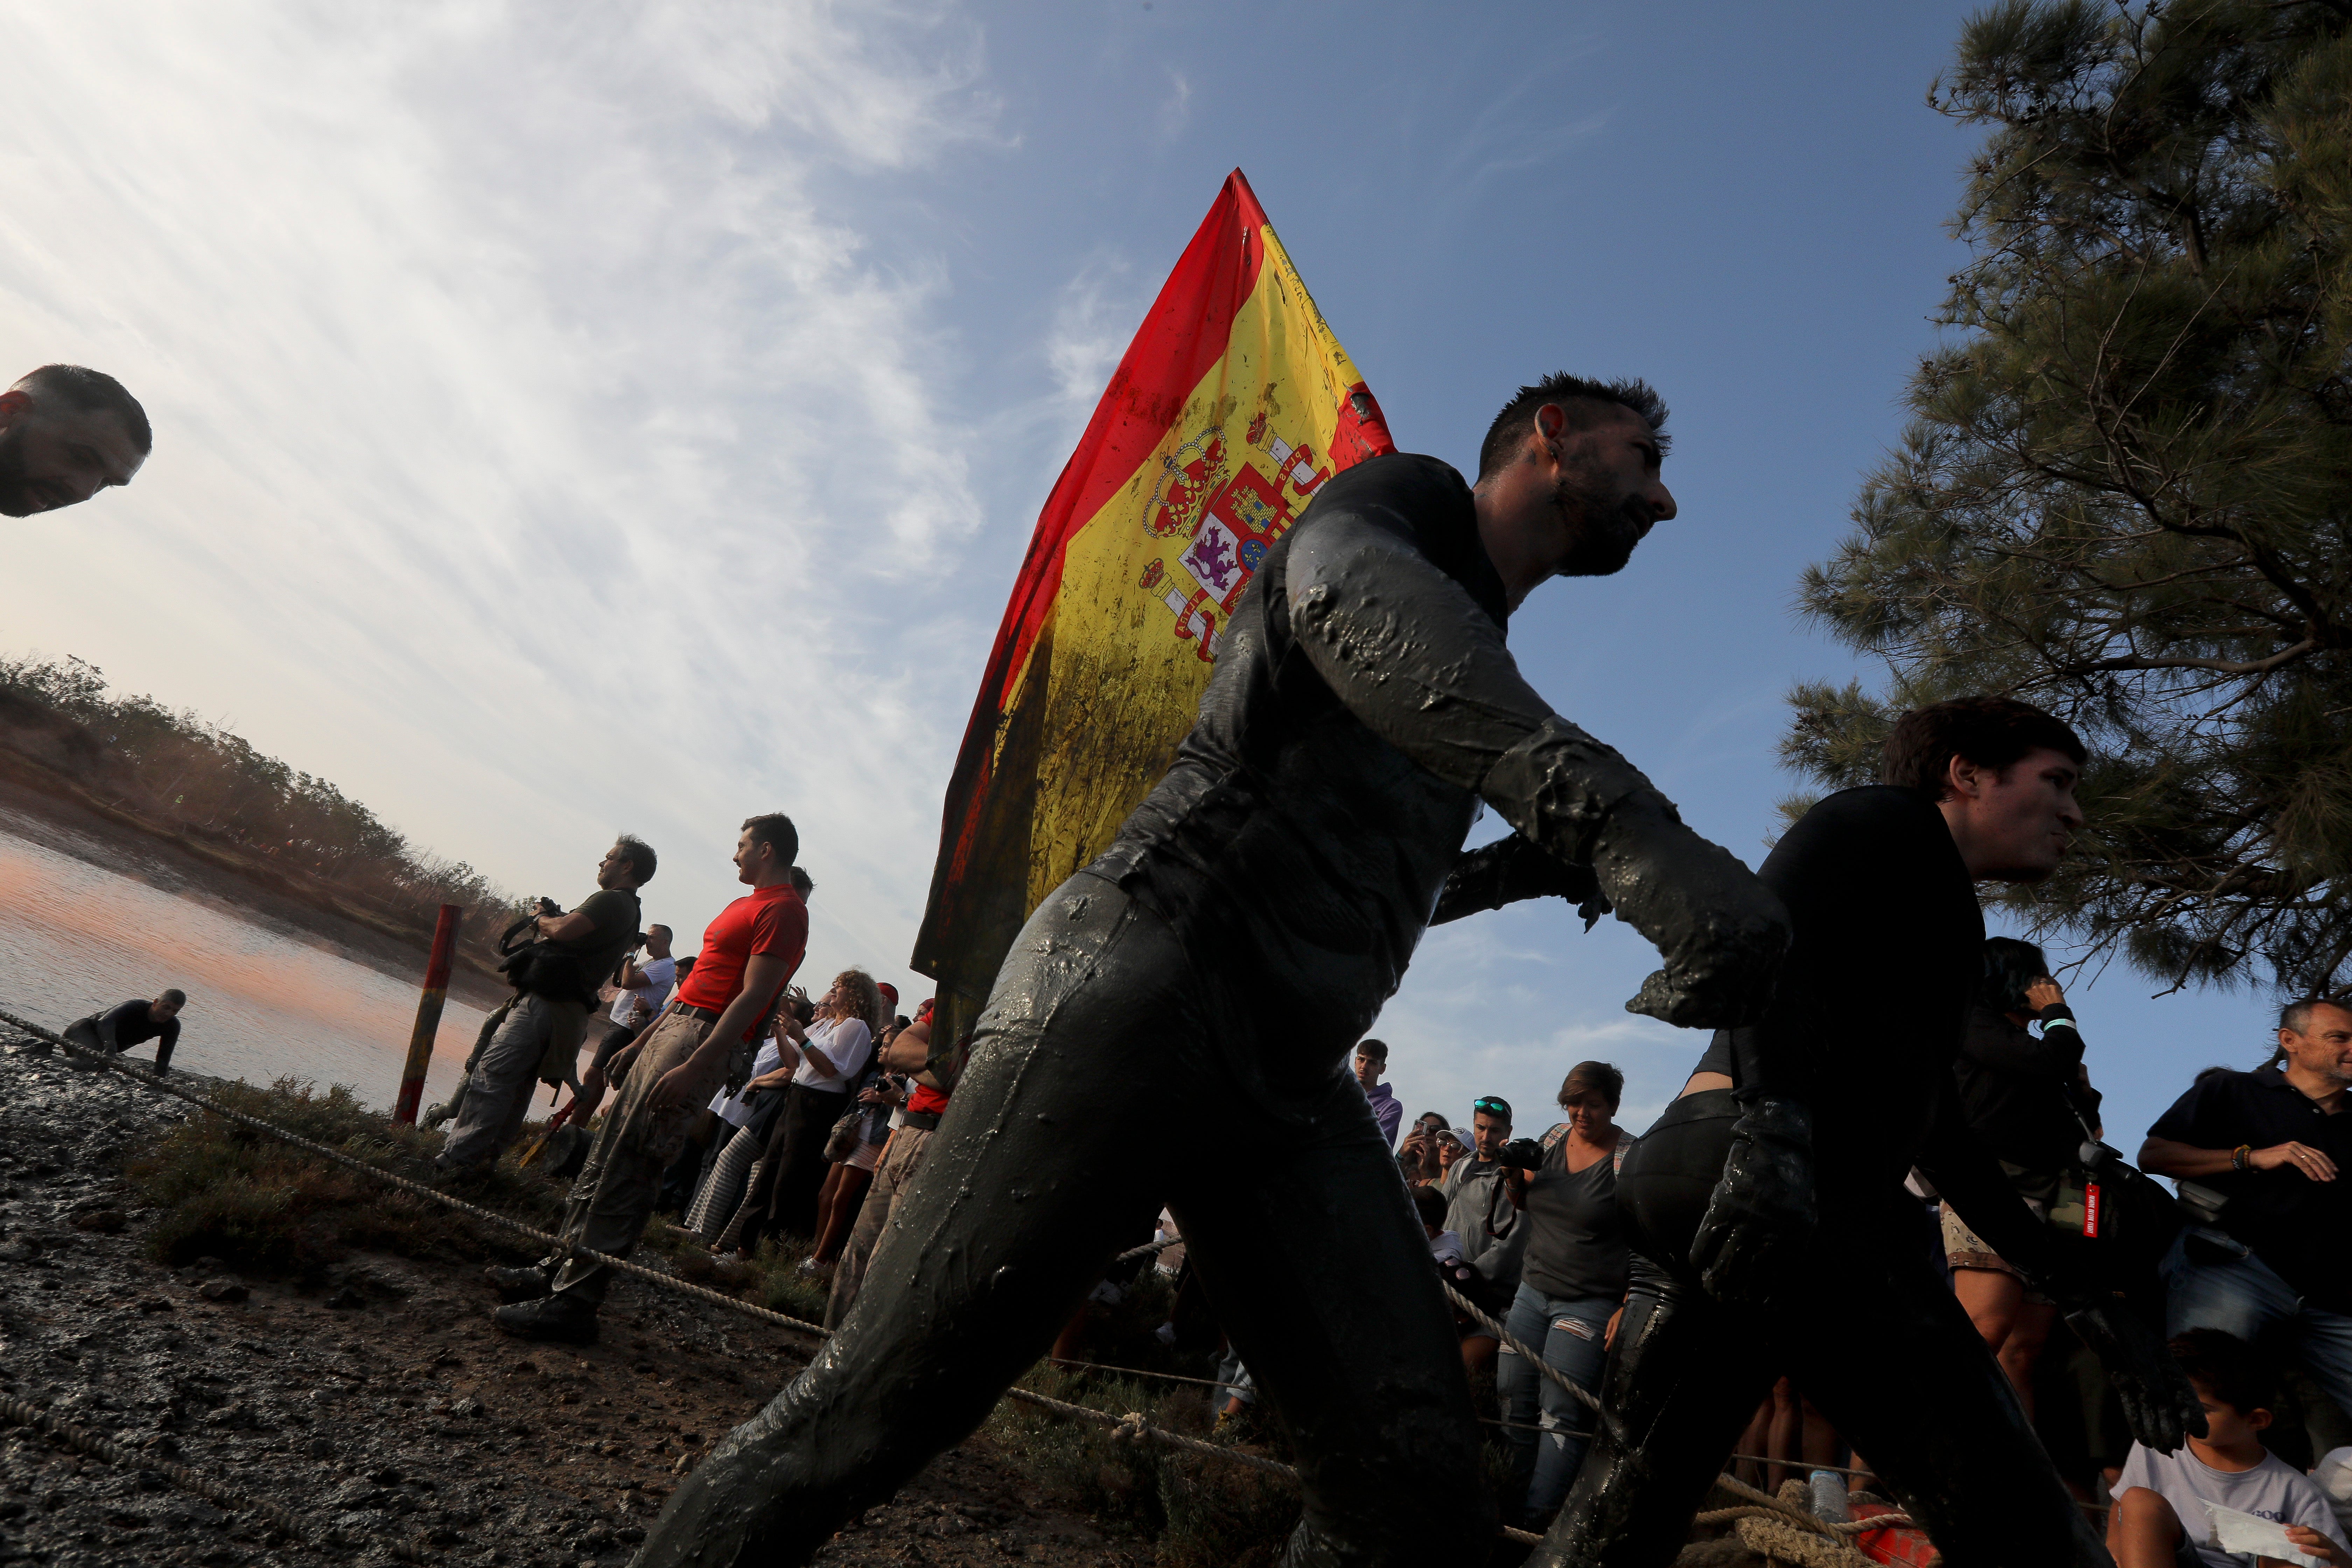
<path id="1" fill-rule="evenodd" d="M 1599 1436 L 1529 1568 L 1672 1563 L 1771 1380 L 1755 1324 L 1635 1255 Z"/>

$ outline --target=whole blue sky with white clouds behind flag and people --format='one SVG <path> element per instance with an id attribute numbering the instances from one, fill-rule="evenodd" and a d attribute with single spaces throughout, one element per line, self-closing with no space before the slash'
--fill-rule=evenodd
<path id="1" fill-rule="evenodd" d="M 1959 5 L 49 7 L 0 59 L 0 364 L 120 374 L 122 494 L 7 527 L 9 651 L 235 724 L 515 891 L 616 827 L 699 929 L 802 823 L 809 969 L 906 971 L 938 792 L 1037 505 L 1247 169 L 1409 449 L 1550 369 L 1675 407 L 1682 517 L 1512 628 L 1562 712 L 1755 863 L 1790 614 L 1898 430 L 1973 134 Z M 1559 905 L 1442 929 L 1409 1110 L 1543 1107 L 1703 1041 Z M 2110 1131 L 2253 997 L 2079 990 Z M 920 994 L 920 992 L 915 992 Z M 1889 1044 L 1903 1032 L 1886 1020 Z M 1548 1124 L 1541 1110 L 1524 1124 Z"/>

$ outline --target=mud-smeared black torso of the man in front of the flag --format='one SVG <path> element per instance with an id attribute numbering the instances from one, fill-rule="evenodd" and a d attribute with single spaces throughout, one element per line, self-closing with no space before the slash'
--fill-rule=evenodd
<path id="1" fill-rule="evenodd" d="M 1399 454 L 1334 477 L 1221 635 L 1176 764 L 1091 867 L 1249 987 L 1254 1032 L 1305 1032 L 1317 1072 L 1324 1046 L 1352 1044 L 1397 990 L 1477 816 L 1470 790 L 1367 729 L 1291 635 L 1294 545 L 1343 512 L 1409 541 L 1503 625 L 1503 583 L 1454 468 Z"/>

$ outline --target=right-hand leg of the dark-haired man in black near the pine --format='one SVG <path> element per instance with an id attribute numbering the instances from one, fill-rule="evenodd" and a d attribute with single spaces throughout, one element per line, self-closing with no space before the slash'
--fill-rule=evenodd
<path id="1" fill-rule="evenodd" d="M 1872 1276 L 1875 1274 L 1875 1276 Z M 2107 1549 L 2042 1450 L 2018 1394 L 1922 1260 L 1889 1260 L 1811 1302 L 1790 1373 L 1870 1455 L 1952 1568 L 2091 1568 Z"/>

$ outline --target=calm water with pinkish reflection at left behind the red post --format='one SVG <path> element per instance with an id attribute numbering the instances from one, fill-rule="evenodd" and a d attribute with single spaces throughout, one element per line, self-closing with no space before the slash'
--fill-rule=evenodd
<path id="1" fill-rule="evenodd" d="M 350 1084 L 388 1107 L 421 983 L 421 954 L 416 976 L 395 980 L 329 938 L 186 886 L 122 844 L 0 809 L 0 1009 L 19 1018 L 54 1030 L 176 985 L 188 1006 L 174 1067 Z M 480 1009 L 452 997 L 426 1105 L 447 1095 L 480 1027 Z"/>

